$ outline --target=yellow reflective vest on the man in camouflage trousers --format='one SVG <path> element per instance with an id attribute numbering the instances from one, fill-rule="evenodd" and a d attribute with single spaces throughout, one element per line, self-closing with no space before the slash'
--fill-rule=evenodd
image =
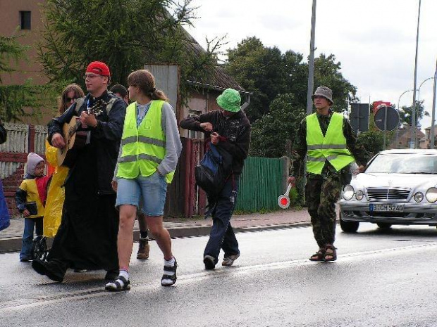
<path id="1" fill-rule="evenodd" d="M 354 161 L 347 149 L 343 135 L 343 115 L 333 113 L 326 134 L 321 132 L 317 114 L 313 113 L 307 121 L 307 172 L 321 174 L 325 160 L 339 171 Z"/>

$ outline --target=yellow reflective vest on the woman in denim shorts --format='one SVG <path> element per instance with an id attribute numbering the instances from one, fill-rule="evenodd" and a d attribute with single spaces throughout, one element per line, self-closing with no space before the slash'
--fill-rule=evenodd
<path id="1" fill-rule="evenodd" d="M 161 127 L 163 104 L 162 100 L 153 100 L 138 127 L 137 103 L 128 105 L 121 136 L 117 177 L 135 179 L 140 174 L 147 177 L 156 172 L 166 156 L 166 135 Z M 168 184 L 173 180 L 173 175 L 174 171 L 166 174 Z"/>

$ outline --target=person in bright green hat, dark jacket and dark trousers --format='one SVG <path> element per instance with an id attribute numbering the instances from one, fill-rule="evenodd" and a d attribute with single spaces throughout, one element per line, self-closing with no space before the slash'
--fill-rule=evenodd
<path id="1" fill-rule="evenodd" d="M 250 122 L 240 108 L 241 98 L 238 91 L 226 89 L 217 98 L 217 103 L 222 110 L 187 117 L 180 122 L 183 129 L 204 132 L 205 136 L 210 136 L 211 143 L 219 152 L 225 151 L 232 156 L 232 173 L 225 186 L 214 198 L 208 194 L 213 226 L 204 250 L 205 269 L 214 269 L 219 262 L 220 249 L 225 252 L 221 263 L 223 266 L 231 266 L 240 256 L 238 241 L 230 226 L 230 217 L 237 200 L 240 174 L 250 143 Z"/>

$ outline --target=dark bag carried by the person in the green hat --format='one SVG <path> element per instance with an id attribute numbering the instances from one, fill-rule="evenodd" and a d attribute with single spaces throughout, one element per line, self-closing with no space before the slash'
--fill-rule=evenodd
<path id="1" fill-rule="evenodd" d="M 219 151 L 211 143 L 200 164 L 195 167 L 195 179 L 208 195 L 217 195 L 232 173 L 232 156 L 225 150 Z"/>

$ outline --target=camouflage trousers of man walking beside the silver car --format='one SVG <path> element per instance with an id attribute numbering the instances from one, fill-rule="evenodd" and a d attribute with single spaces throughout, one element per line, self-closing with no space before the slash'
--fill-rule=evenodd
<path id="1" fill-rule="evenodd" d="M 305 198 L 311 216 L 312 231 L 319 248 L 336 241 L 336 202 L 342 186 L 339 174 L 307 179 Z"/>

